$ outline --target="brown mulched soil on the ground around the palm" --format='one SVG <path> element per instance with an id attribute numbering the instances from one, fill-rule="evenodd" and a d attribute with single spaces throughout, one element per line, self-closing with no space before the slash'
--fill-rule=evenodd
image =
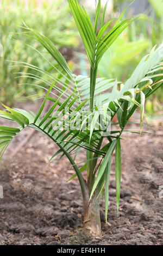
<path id="1" fill-rule="evenodd" d="M 141 137 L 123 134 L 119 215 L 113 162 L 108 224 L 102 201 L 102 235 L 89 238 L 82 233 L 78 180 L 66 182 L 74 174 L 72 167 L 64 157 L 49 162 L 57 145 L 35 132 L 11 158 L 30 129 L 22 131 L 10 144 L 0 166 L 4 190 L 4 198 L 0 199 L 0 245 L 163 245 L 163 198 L 159 189 L 163 185 L 162 126 L 162 120 L 145 126 L 143 130 L 151 133 Z M 140 127 L 131 124 L 128 129 L 139 131 Z M 84 156 L 81 154 L 78 160 L 83 161 Z"/>

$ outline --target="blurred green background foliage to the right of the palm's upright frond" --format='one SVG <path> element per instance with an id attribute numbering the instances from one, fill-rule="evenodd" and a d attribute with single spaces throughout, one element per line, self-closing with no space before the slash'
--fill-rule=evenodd
<path id="1" fill-rule="evenodd" d="M 124 0 L 123 2 L 128 3 L 129 1 Z M 101 65 L 99 65 L 99 75 L 106 77 L 117 77 L 118 80 L 124 81 L 124 78 L 128 78 L 131 75 L 131 71 L 137 63 L 139 62 L 142 54 L 145 54 L 156 44 L 161 44 L 163 41 L 163 0 L 148 0 L 150 3 L 149 7 L 145 10 L 143 14 L 138 15 L 139 20 L 135 21 L 128 27 L 126 34 L 123 35 L 124 45 L 122 41 L 121 47 L 121 38 L 118 38 L 114 45 L 110 47 L 109 50 L 105 53 Z M 119 11 L 120 5 L 119 0 L 114 1 L 114 10 Z M 128 11 L 128 15 L 133 13 L 132 7 Z M 137 41 L 140 38 L 140 41 Z M 125 41 L 126 39 L 126 41 Z M 119 41 L 119 42 L 118 42 Z M 139 43 L 140 43 L 140 52 L 139 52 Z M 136 44 L 136 45 L 135 45 Z M 147 44 L 147 45 L 146 45 Z M 135 46 L 134 46 L 135 45 Z M 116 50 L 117 46 L 117 51 Z M 123 47 L 124 46 L 124 47 Z M 126 47 L 125 47 L 126 46 Z M 133 47 L 136 47 L 137 49 Z M 144 46 L 144 48 L 143 48 Z M 147 47 L 148 46 L 148 47 Z M 141 49 L 142 47 L 142 49 Z M 112 49 L 111 49 L 112 48 Z M 132 49 L 133 48 L 133 49 Z M 130 50 L 133 50 L 135 57 L 133 58 L 132 53 L 129 53 Z M 134 52 L 135 51 L 135 52 Z M 137 52 L 138 51 L 138 52 Z M 111 54 L 113 52 L 113 54 Z M 116 52 L 117 52 L 117 62 L 116 62 Z M 130 62 L 125 62 L 125 55 L 130 56 Z M 123 62 L 118 60 L 123 59 Z M 111 62 L 110 62 L 111 61 Z M 106 70 L 106 62 L 111 63 L 108 70 Z M 124 63 L 124 64 L 123 64 Z M 127 65 L 126 65 L 127 64 Z M 120 73 L 116 74 L 116 71 L 120 70 Z M 151 101 L 151 103 L 149 103 Z M 161 109 L 161 103 L 163 102 L 163 89 L 162 87 L 157 90 L 148 100 L 148 106 L 146 111 L 148 114 L 154 114 L 155 112 Z M 149 108 L 151 105 L 151 108 Z M 149 110 L 150 109 L 150 110 Z"/>

